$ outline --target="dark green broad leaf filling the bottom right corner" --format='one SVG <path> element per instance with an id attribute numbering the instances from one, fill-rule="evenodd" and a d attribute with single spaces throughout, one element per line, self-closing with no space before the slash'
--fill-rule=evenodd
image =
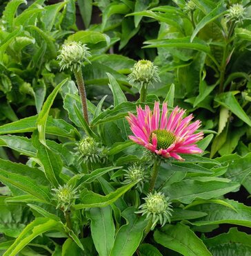
<path id="1" fill-rule="evenodd" d="M 230 228 L 228 233 L 223 233 L 209 239 L 203 239 L 212 255 L 251 255 L 251 235 Z"/>

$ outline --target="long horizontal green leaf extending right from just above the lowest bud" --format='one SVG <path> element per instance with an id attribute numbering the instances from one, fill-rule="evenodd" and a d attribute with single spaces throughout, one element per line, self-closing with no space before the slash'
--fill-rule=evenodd
<path id="1" fill-rule="evenodd" d="M 239 188 L 239 183 L 225 181 L 225 179 L 212 178 L 208 181 L 183 180 L 165 185 L 162 191 L 172 201 L 192 203 L 195 199 L 213 199 Z"/>

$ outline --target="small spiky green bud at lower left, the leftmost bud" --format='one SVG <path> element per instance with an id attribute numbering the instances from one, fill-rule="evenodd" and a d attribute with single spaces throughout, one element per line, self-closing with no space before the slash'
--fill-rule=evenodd
<path id="1" fill-rule="evenodd" d="M 74 199 L 78 198 L 77 189 L 73 189 L 70 185 L 59 185 L 59 188 L 53 188 L 54 200 L 57 201 L 57 208 L 66 212 L 70 210 L 70 206 L 74 203 Z"/>

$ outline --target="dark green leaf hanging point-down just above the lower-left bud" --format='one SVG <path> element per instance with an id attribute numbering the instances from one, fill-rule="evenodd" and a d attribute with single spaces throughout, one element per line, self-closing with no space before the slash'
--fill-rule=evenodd
<path id="1" fill-rule="evenodd" d="M 61 157 L 40 142 L 37 131 L 32 134 L 32 144 L 37 149 L 37 158 L 39 159 L 39 164 L 43 167 L 46 178 L 52 187 L 57 188 L 61 183 L 59 176 L 63 168 Z"/>

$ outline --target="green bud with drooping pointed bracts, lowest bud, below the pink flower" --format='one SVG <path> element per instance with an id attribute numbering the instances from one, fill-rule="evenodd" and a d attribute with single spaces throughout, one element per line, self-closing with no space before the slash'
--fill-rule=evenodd
<path id="1" fill-rule="evenodd" d="M 164 226 L 168 221 L 171 222 L 172 209 L 171 203 L 168 203 L 169 197 L 165 197 L 165 194 L 161 192 L 149 193 L 146 198 L 144 198 L 145 203 L 139 206 L 139 210 L 136 213 L 146 214 L 146 219 L 152 218 L 152 227 L 154 229 L 157 222 Z"/>

